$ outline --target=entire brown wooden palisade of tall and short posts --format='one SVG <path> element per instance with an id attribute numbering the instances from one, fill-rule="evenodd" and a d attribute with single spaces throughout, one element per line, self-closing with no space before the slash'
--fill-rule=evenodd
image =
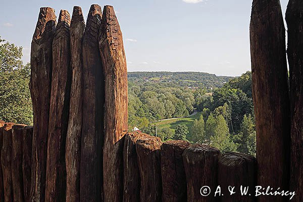
<path id="1" fill-rule="evenodd" d="M 41 8 L 31 45 L 34 126 L 0 122 L 0 201 L 284 201 L 254 188 L 303 189 L 303 2 L 290 0 L 288 61 L 278 0 L 250 22 L 257 160 L 186 141 L 127 133 L 127 67 L 113 7 L 72 18 Z M 289 96 L 290 95 L 290 96 Z M 289 98 L 290 97 L 290 98 Z M 290 167 L 289 167 L 290 164 Z M 215 196 L 215 191 L 221 192 Z M 249 186 L 246 195 L 240 186 Z M 207 186 L 207 187 L 206 187 Z M 229 186 L 238 189 L 229 194 Z M 208 195 L 209 189 L 211 193 Z M 203 196 L 205 195 L 205 196 Z"/>

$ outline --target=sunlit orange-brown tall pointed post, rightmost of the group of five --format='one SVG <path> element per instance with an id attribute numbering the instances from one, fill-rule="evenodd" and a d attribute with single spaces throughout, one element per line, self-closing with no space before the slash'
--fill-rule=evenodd
<path id="1" fill-rule="evenodd" d="M 104 201 L 123 199 L 123 136 L 127 133 L 127 67 L 122 32 L 112 6 L 105 6 L 99 31 L 105 72 Z"/>

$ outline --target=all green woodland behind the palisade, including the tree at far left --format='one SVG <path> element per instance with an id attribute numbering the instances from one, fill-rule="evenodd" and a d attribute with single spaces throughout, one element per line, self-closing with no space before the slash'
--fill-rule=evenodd
<path id="1" fill-rule="evenodd" d="M 31 125 L 30 65 L 21 58 L 22 47 L 0 38 L 0 120 Z M 250 72 L 236 78 L 201 72 L 129 72 L 128 99 L 129 131 L 137 127 L 163 141 L 183 139 L 223 152 L 256 154 Z M 180 124 L 162 124 L 170 118 L 178 118 Z"/>

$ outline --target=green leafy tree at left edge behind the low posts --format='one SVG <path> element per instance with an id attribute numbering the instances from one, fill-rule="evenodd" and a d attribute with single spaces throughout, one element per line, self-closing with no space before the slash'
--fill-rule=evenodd
<path id="1" fill-rule="evenodd" d="M 0 120 L 32 124 L 30 65 L 21 61 L 22 47 L 0 41 Z"/>

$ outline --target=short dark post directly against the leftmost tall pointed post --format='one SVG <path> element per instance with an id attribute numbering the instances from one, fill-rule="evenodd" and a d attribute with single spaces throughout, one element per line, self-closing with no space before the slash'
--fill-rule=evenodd
<path id="1" fill-rule="evenodd" d="M 23 173 L 23 190 L 24 200 L 30 199 L 30 184 L 31 184 L 31 170 L 32 170 L 32 140 L 33 127 L 25 126 L 22 134 L 22 173 Z"/>

